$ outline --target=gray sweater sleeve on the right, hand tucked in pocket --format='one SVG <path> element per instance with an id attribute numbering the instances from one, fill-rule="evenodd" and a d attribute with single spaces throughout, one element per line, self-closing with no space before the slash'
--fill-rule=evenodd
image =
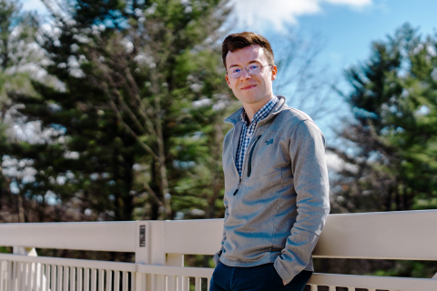
<path id="1" fill-rule="evenodd" d="M 289 148 L 298 216 L 285 248 L 274 263 L 287 284 L 309 266 L 311 253 L 330 212 L 325 138 L 319 128 L 310 120 L 300 122 L 291 133 Z"/>

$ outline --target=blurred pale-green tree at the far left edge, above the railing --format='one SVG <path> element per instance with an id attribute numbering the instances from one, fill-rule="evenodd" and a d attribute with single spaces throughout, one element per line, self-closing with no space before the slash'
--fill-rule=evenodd
<path id="1" fill-rule="evenodd" d="M 25 199 L 18 193 L 33 169 L 26 160 L 7 156 L 20 144 L 13 126 L 22 125 L 23 118 L 16 111 L 17 105 L 10 98 L 12 92 L 33 95 L 30 79 L 36 77 L 40 52 L 35 48 L 37 15 L 23 13 L 14 0 L 0 1 L 0 210 L 1 221 L 25 221 Z M 3 214 L 12 214 L 4 216 Z"/>

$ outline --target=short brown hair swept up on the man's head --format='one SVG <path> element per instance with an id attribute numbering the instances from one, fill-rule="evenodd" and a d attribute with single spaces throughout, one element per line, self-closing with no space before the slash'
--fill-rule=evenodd
<path id="1" fill-rule="evenodd" d="M 259 45 L 264 48 L 264 54 L 266 54 L 270 65 L 275 64 L 273 50 L 271 49 L 269 41 L 262 35 L 257 35 L 255 33 L 245 31 L 238 34 L 228 35 L 223 41 L 223 45 L 221 45 L 221 56 L 223 57 L 223 65 L 225 65 L 225 68 L 226 55 L 228 55 L 229 51 L 233 53 L 236 50 L 245 48 L 250 45 Z"/>

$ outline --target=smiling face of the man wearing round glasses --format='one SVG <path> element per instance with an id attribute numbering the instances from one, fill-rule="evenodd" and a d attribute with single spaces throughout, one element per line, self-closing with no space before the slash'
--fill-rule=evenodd
<path id="1" fill-rule="evenodd" d="M 249 64 L 268 65 L 261 68 L 259 74 L 250 75 L 246 70 Z M 273 95 L 272 81 L 276 79 L 276 65 L 269 64 L 264 49 L 259 45 L 250 45 L 226 55 L 227 71 L 232 66 L 242 68 L 239 78 L 226 75 L 226 81 L 234 95 L 243 103 L 256 105 L 264 103 Z"/>

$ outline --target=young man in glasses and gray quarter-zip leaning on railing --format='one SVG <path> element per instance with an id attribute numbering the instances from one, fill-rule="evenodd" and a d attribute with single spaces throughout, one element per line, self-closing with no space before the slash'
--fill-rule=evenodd
<path id="1" fill-rule="evenodd" d="M 243 107 L 225 119 L 225 220 L 210 291 L 303 290 L 330 211 L 325 139 L 273 95 L 278 69 L 262 35 L 228 35 L 226 81 Z"/>

